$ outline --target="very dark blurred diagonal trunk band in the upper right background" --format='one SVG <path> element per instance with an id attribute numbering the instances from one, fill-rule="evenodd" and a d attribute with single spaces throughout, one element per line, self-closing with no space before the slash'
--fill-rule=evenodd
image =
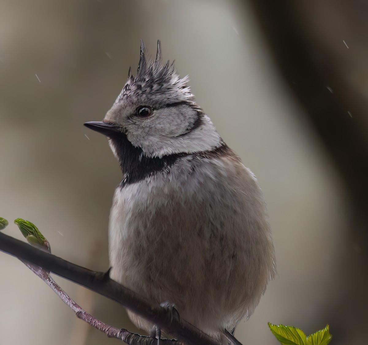
<path id="1" fill-rule="evenodd" d="M 332 93 L 327 80 L 338 86 L 344 81 L 336 71 L 322 70 L 314 59 L 294 1 L 248 2 L 258 16 L 276 66 L 339 170 L 355 211 L 367 210 L 368 136 L 363 115 L 351 108 L 343 94 Z"/>

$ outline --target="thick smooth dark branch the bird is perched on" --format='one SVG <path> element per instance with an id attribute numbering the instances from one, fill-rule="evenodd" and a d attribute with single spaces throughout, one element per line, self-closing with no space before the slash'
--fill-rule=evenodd
<path id="1" fill-rule="evenodd" d="M 197 327 L 172 314 L 161 306 L 152 306 L 142 296 L 125 288 L 109 277 L 109 273 L 95 272 L 87 268 L 72 264 L 53 254 L 45 253 L 27 243 L 17 240 L 0 232 L 0 250 L 15 257 L 38 265 L 60 277 L 67 278 L 102 296 L 120 303 L 162 328 L 168 334 L 188 345 L 221 345 Z"/>

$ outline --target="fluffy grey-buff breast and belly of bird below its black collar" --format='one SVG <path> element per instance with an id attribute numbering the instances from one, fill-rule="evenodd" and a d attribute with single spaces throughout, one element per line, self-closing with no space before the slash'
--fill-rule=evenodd
<path id="1" fill-rule="evenodd" d="M 242 300 L 251 309 L 245 299 L 261 295 L 273 248 L 254 176 L 229 164 L 188 160 L 118 187 L 109 225 L 112 278 L 153 302 L 175 303 L 188 317 L 189 304 L 203 309 L 214 300 L 218 314 L 233 313 Z"/>

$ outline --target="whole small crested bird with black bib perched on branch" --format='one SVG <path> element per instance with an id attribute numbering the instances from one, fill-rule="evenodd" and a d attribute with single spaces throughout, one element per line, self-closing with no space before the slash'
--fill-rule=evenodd
<path id="1" fill-rule="evenodd" d="M 129 68 L 103 121 L 85 126 L 107 137 L 123 173 L 109 218 L 110 277 L 224 341 L 274 279 L 275 250 L 255 175 L 188 81 L 162 62 L 160 41 L 153 60 L 141 40 L 137 74 Z"/>

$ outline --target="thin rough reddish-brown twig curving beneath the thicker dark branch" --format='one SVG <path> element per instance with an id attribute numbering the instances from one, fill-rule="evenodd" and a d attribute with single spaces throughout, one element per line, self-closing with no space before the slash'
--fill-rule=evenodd
<path id="1" fill-rule="evenodd" d="M 75 315 L 81 320 L 85 321 L 89 325 L 95 327 L 99 331 L 105 333 L 109 338 L 116 338 L 124 341 L 129 345 L 156 345 L 157 339 L 152 337 L 145 337 L 143 335 L 131 333 L 124 328 L 116 328 L 110 326 L 91 314 L 87 313 L 84 309 L 82 309 L 77 303 L 72 300 L 67 293 L 60 288 L 59 285 L 56 284 L 54 279 L 50 277 L 50 272 L 41 268 L 37 265 L 33 265 L 28 263 L 27 261 L 21 260 L 33 273 L 35 273 L 38 277 L 40 277 L 53 291 L 61 298 L 61 300 L 70 307 L 71 310 L 74 311 Z M 177 345 L 178 342 L 176 340 L 170 339 L 160 339 L 161 344 L 170 344 Z"/>

